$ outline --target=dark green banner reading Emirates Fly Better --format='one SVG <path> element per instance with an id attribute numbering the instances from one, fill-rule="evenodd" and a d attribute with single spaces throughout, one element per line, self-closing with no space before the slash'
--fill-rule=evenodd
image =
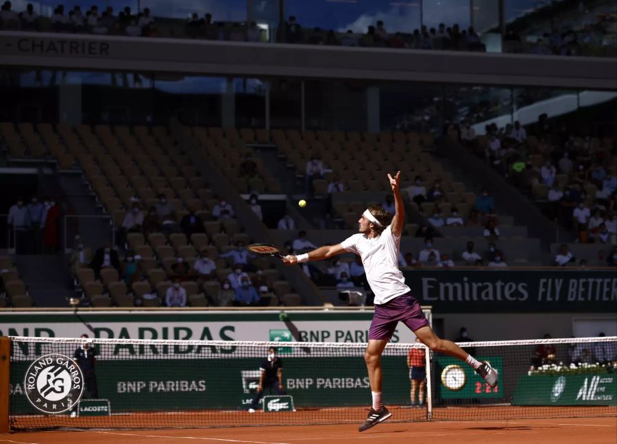
<path id="1" fill-rule="evenodd" d="M 612 270 L 407 270 L 407 284 L 433 312 L 614 312 Z"/>

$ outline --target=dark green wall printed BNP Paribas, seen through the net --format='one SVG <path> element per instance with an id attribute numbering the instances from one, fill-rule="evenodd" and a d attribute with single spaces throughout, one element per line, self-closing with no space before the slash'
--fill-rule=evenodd
<path id="1" fill-rule="evenodd" d="M 110 401 L 114 413 L 248 408 L 264 358 L 99 360 L 98 393 Z M 293 396 L 295 408 L 370 404 L 370 384 L 362 356 L 284 356 L 282 362 L 286 394 Z M 11 408 L 16 414 L 36 413 L 23 394 L 28 364 L 12 364 Z M 408 404 L 405 357 L 385 356 L 383 367 L 387 381 L 383 392 L 388 402 Z M 265 388 L 264 395 L 279 394 Z"/>

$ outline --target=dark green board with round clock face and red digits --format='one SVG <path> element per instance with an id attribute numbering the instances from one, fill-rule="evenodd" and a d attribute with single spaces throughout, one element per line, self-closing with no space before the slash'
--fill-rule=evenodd
<path id="1" fill-rule="evenodd" d="M 479 361 L 488 361 L 503 381 L 503 361 L 500 356 L 481 356 Z M 489 386 L 471 366 L 455 358 L 437 358 L 436 375 L 441 399 L 485 399 L 503 397 L 500 384 Z"/>

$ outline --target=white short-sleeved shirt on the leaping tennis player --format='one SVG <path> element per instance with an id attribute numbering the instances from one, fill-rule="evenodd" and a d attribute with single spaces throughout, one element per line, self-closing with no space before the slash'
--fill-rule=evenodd
<path id="1" fill-rule="evenodd" d="M 362 233 L 354 234 L 341 242 L 341 246 L 362 258 L 366 279 L 375 294 L 374 303 L 384 304 L 410 291 L 398 269 L 400 237 L 392 234 L 391 225 L 373 239 Z"/>

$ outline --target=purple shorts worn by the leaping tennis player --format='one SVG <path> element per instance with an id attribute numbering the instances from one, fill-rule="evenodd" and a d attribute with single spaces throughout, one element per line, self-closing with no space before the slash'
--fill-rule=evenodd
<path id="1" fill-rule="evenodd" d="M 375 305 L 369 339 L 390 340 L 399 320 L 411 331 L 428 325 L 420 303 L 411 296 L 411 293 L 397 296 L 385 304 Z"/>

